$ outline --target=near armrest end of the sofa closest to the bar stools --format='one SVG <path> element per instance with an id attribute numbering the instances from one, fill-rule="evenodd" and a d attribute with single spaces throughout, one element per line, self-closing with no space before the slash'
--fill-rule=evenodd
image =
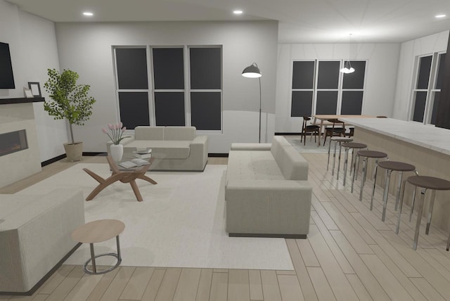
<path id="1" fill-rule="evenodd" d="M 226 232 L 231 236 L 306 238 L 311 195 L 308 181 L 228 181 Z"/>

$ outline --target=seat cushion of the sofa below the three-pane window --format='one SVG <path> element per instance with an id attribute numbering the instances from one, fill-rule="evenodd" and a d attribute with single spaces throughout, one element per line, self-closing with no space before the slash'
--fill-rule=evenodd
<path id="1" fill-rule="evenodd" d="M 135 140 L 125 148 L 151 148 L 152 157 L 156 159 L 189 158 L 192 141 Z"/>

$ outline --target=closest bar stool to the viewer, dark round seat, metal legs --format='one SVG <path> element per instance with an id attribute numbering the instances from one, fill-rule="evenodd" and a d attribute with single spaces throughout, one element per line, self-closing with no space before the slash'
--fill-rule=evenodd
<path id="1" fill-rule="evenodd" d="M 435 178 L 435 177 L 426 177 L 426 176 L 412 176 L 412 177 L 409 177 L 408 179 L 406 179 L 406 181 L 409 184 L 415 186 L 414 193 L 413 193 L 413 200 L 416 198 L 417 187 L 422 188 L 420 190 L 420 203 L 419 203 L 418 212 L 417 212 L 416 232 L 414 233 L 414 242 L 413 242 L 413 249 L 416 250 L 417 249 L 417 241 L 419 238 L 420 220 L 422 219 L 423 206 L 425 205 L 424 204 L 425 203 L 425 193 L 427 192 L 428 189 L 432 190 L 430 207 L 428 209 L 427 228 L 425 229 L 425 234 L 428 235 L 428 232 L 430 231 L 433 205 L 435 204 L 436 191 L 437 190 L 442 190 L 442 191 L 450 190 L 450 181 L 440 179 L 440 178 Z M 400 228 L 400 216 L 401 216 L 401 207 L 402 206 L 403 206 L 403 198 L 401 198 L 401 200 L 400 200 L 399 217 L 397 218 L 397 230 L 395 231 L 395 233 L 397 233 L 397 234 L 399 233 L 399 228 Z M 450 247 L 450 236 L 449 236 L 449 239 L 447 240 L 447 248 L 446 248 L 447 251 L 449 250 L 449 247 Z"/>

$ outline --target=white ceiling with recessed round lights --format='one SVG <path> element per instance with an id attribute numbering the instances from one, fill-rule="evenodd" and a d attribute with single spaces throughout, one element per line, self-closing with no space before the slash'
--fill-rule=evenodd
<path id="1" fill-rule="evenodd" d="M 449 0 L 8 0 L 54 22 L 278 20 L 279 43 L 390 43 L 450 29 Z M 242 15 L 232 11 L 241 9 Z M 83 11 L 94 13 L 84 17 Z M 437 19 L 435 15 L 446 14 Z M 352 34 L 351 40 L 350 35 Z"/>

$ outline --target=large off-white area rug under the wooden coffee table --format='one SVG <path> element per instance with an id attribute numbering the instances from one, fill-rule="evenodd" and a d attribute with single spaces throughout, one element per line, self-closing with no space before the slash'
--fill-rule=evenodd
<path id="1" fill-rule="evenodd" d="M 79 188 L 84 198 L 97 185 L 82 169 L 108 177 L 106 164 L 79 163 L 18 194 L 42 195 L 54 188 Z M 205 172 L 148 172 L 157 185 L 137 180 L 143 202 L 129 184 L 115 183 L 84 203 L 86 222 L 119 219 L 122 265 L 218 269 L 292 270 L 283 238 L 229 238 L 225 231 L 226 165 L 207 165 Z M 115 252 L 115 239 L 94 245 L 96 254 Z M 89 245 L 82 245 L 65 264 L 84 264 Z M 98 264 L 110 264 L 108 257 Z"/>

